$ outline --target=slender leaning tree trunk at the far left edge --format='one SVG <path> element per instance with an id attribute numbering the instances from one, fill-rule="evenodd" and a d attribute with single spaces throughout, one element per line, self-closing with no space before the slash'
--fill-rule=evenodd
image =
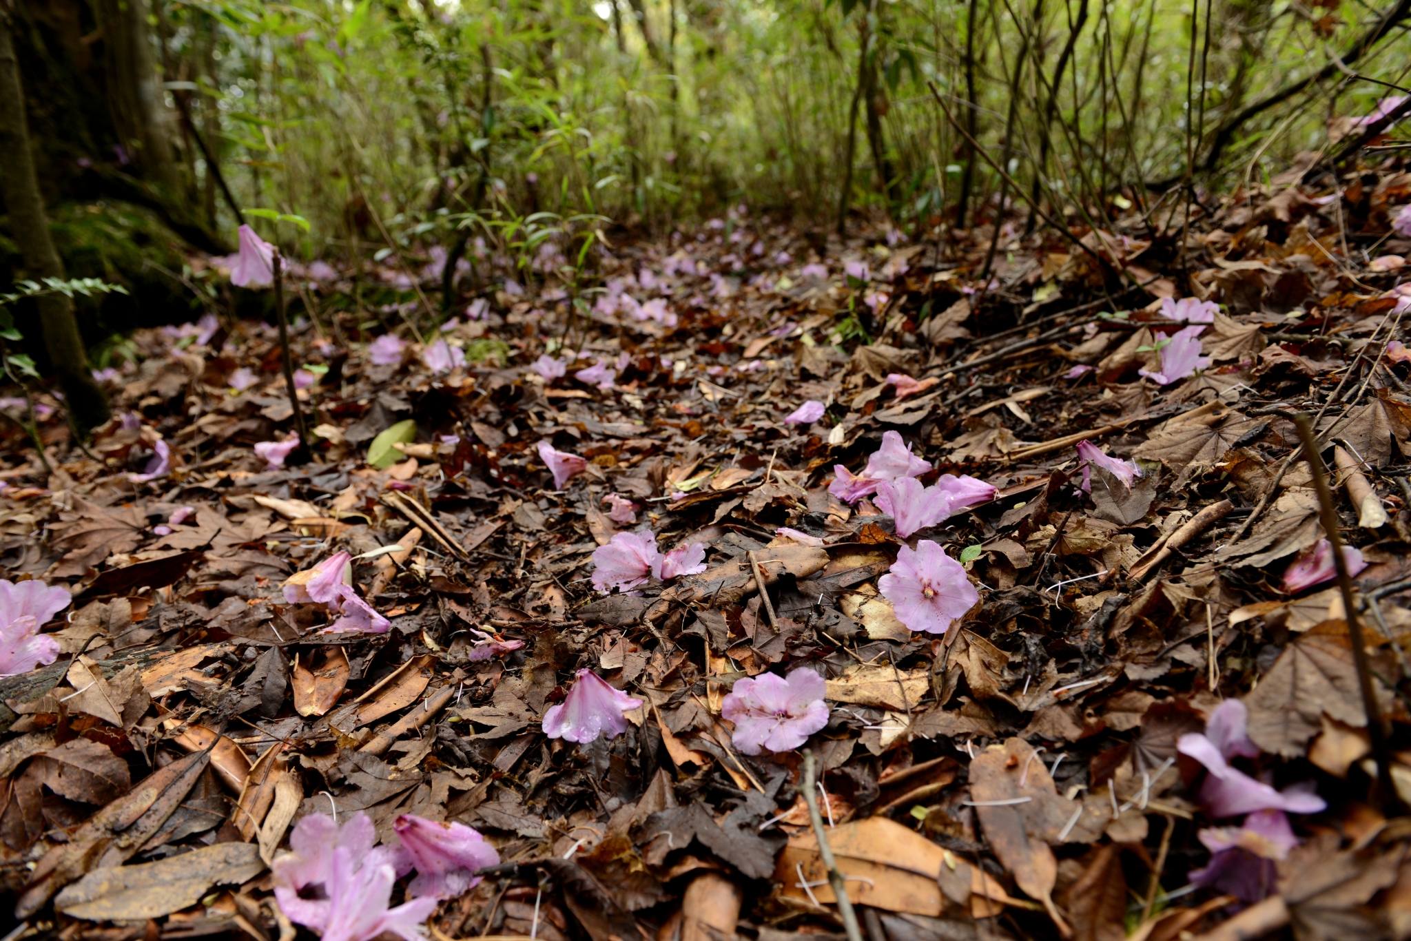
<path id="1" fill-rule="evenodd" d="M 0 16 L 0 196 L 10 213 L 10 231 L 20 243 L 31 278 L 63 278 L 63 262 L 49 238 L 49 220 L 34 175 L 30 133 L 25 127 L 20 65 L 10 40 L 8 17 Z M 62 293 L 37 299 L 44 346 L 59 374 L 69 415 L 82 430 L 109 419 L 107 398 L 89 372 L 87 351 L 73 316 L 73 300 Z"/>

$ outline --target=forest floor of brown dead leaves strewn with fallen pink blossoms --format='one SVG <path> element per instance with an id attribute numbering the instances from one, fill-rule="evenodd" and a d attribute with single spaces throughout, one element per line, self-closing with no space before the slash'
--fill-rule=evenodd
<path id="1" fill-rule="evenodd" d="M 295 267 L 299 466 L 254 447 L 293 429 L 277 329 L 135 334 L 120 418 L 80 450 L 41 394 L 52 473 L 21 436 L 0 471 L 8 577 L 72 594 L 56 659 L 0 680 L 17 930 L 289 941 L 332 906 L 326 938 L 398 911 L 437 941 L 841 938 L 824 834 L 869 941 L 1411 937 L 1411 175 L 1301 174 L 1194 205 L 1184 241 L 1180 196 L 1072 240 L 1007 223 L 985 281 L 989 227 L 608 233 L 580 306 L 501 274 L 420 340 L 415 299 L 353 312 L 353 272 Z M 408 281 L 382 264 L 364 289 Z M 646 571 L 648 532 L 703 557 Z M 286 585 L 339 552 L 375 617 Z M 958 609 L 900 601 L 899 553 Z M 34 611 L 0 608 L 13 643 Z M 761 749 L 732 708 L 794 670 L 827 705 Z M 625 731 L 570 741 L 590 720 Z M 305 818 L 374 869 L 358 814 L 388 845 L 466 824 L 501 865 L 429 917 L 332 863 L 277 903 Z"/>

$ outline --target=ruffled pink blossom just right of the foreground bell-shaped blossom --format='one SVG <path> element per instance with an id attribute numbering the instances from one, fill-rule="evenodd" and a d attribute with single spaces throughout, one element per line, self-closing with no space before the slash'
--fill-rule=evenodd
<path id="1" fill-rule="evenodd" d="M 735 680 L 720 714 L 735 724 L 731 741 L 745 755 L 792 752 L 828 724 L 824 679 L 799 669 L 789 679 L 761 673 Z"/>

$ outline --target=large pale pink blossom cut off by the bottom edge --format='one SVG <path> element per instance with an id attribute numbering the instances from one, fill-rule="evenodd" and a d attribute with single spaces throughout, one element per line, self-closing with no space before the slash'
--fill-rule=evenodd
<path id="1" fill-rule="evenodd" d="M 436 910 L 436 899 L 388 909 L 392 883 L 412 863 L 399 848 L 374 848 L 375 839 L 373 821 L 361 811 L 341 828 L 327 814 L 301 820 L 289 834 L 292 852 L 270 866 L 279 910 L 327 941 L 371 941 L 384 931 L 423 941 L 420 925 Z"/>

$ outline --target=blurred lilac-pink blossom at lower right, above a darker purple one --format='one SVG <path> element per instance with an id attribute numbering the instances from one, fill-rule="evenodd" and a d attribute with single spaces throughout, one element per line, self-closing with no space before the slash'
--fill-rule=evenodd
<path id="1" fill-rule="evenodd" d="M 1205 765 L 1201 801 L 1211 817 L 1239 817 L 1256 810 L 1283 810 L 1291 814 L 1316 814 L 1324 810 L 1328 804 L 1318 794 L 1294 787 L 1277 791 L 1229 763 L 1236 756 L 1259 755 L 1245 731 L 1246 721 L 1245 704 L 1226 700 L 1211 712 L 1204 735 L 1189 732 L 1175 742 L 1175 751 Z"/>

